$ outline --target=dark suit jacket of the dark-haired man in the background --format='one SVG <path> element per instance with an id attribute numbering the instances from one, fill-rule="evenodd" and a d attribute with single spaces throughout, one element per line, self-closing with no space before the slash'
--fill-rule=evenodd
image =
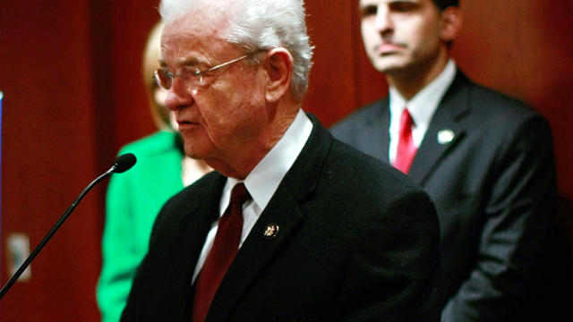
<path id="1" fill-rule="evenodd" d="M 389 162 L 388 130 L 386 98 L 331 131 Z M 548 277 L 536 268 L 549 264 L 542 257 L 556 197 L 552 136 L 543 117 L 458 71 L 408 176 L 430 194 L 440 218 L 446 320 L 497 321 L 517 312 L 531 318 L 523 298 L 538 308 L 548 295 L 531 287 Z"/>

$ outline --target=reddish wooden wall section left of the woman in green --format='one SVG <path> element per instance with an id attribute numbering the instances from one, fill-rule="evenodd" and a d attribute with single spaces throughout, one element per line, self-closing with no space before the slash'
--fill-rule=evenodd
<path id="1" fill-rule="evenodd" d="M 96 173 L 89 5 L 76 1 L 2 4 L 0 89 L 4 91 L 2 284 L 5 238 L 26 233 L 35 247 Z M 102 210 L 96 195 L 14 284 L 3 321 L 95 321 L 93 301 Z"/>

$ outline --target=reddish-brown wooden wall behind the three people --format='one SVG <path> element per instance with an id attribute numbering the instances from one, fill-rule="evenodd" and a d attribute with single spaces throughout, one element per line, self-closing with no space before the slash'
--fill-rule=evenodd
<path id="1" fill-rule="evenodd" d="M 0 7 L 2 258 L 6 237 L 34 248 L 125 143 L 155 131 L 141 53 L 158 0 L 3 1 Z M 329 126 L 385 95 L 363 53 L 355 1 L 307 0 L 316 46 L 304 108 Z M 573 32 L 569 0 L 462 0 L 453 47 L 474 80 L 518 97 L 552 125 L 560 227 L 573 239 Z M 2 321 L 98 321 L 106 183 L 92 191 L 0 303 Z"/>

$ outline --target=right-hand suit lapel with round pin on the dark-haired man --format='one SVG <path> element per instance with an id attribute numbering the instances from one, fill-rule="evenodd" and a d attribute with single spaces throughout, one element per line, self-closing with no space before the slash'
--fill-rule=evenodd
<path id="1" fill-rule="evenodd" d="M 422 186 L 440 158 L 446 156 L 466 135 L 467 129 L 459 121 L 470 112 L 467 105 L 468 85 L 469 80 L 458 71 L 432 117 L 408 172 L 408 176 Z"/>

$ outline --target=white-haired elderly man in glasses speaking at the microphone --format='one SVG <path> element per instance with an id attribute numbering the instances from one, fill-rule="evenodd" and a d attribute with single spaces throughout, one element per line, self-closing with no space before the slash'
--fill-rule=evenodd
<path id="1" fill-rule="evenodd" d="M 122 320 L 437 320 L 431 200 L 301 110 L 302 1 L 160 12 L 158 83 L 185 153 L 217 172 L 159 212 Z"/>

